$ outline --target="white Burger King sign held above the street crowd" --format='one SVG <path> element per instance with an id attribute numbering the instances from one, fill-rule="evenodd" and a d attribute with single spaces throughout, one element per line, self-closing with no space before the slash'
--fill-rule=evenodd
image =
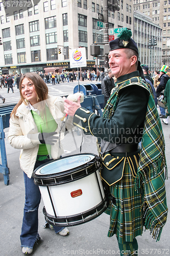
<path id="1" fill-rule="evenodd" d="M 70 68 L 86 67 L 86 48 L 77 48 L 69 50 Z"/>

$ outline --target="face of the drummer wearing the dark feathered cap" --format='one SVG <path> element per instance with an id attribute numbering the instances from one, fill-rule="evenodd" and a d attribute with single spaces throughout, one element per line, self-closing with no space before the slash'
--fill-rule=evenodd
<path id="1" fill-rule="evenodd" d="M 135 65 L 132 61 L 132 57 L 128 58 L 124 49 L 113 50 L 109 52 L 108 57 L 109 66 L 112 70 L 112 74 L 116 78 L 129 74 L 136 70 Z"/>

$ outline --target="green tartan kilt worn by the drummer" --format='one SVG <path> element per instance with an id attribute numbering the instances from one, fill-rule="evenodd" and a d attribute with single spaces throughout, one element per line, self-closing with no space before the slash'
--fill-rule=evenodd
<path id="1" fill-rule="evenodd" d="M 129 163 L 125 163 L 123 178 L 110 186 L 110 193 L 115 202 L 110 203 L 106 213 L 110 215 L 108 237 L 114 234 L 119 243 L 132 242 L 142 234 L 143 211 L 142 193 L 140 188 L 135 190 L 135 177 Z"/>

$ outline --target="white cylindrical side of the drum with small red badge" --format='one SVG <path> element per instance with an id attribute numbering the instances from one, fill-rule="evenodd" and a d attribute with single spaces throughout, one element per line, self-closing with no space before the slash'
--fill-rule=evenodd
<path id="1" fill-rule="evenodd" d="M 105 197 L 99 170 L 96 174 L 92 173 L 73 182 L 48 187 L 39 186 L 39 189 L 47 214 L 57 217 L 81 214 L 98 205 Z M 103 198 L 101 198 L 100 189 Z M 71 197 L 74 191 L 82 191 L 82 194 Z"/>

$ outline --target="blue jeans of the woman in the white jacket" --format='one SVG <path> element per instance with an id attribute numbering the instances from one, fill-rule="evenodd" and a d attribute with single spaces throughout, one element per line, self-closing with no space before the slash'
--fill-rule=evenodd
<path id="1" fill-rule="evenodd" d="M 34 169 L 43 163 L 50 161 L 45 159 L 43 161 L 36 161 Z M 21 228 L 21 247 L 33 248 L 34 243 L 40 239 L 38 234 L 38 207 L 41 201 L 41 194 L 39 187 L 34 184 L 34 178 L 28 178 L 27 174 L 23 172 L 25 181 L 25 207 L 23 208 L 23 220 Z M 53 226 L 56 233 L 61 231 L 64 227 Z"/>

